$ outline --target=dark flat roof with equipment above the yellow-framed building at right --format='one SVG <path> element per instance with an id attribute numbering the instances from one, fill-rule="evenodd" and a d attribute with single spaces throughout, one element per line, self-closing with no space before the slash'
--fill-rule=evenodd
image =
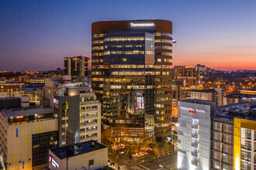
<path id="1" fill-rule="evenodd" d="M 213 120 L 232 123 L 234 122 L 234 117 L 256 120 L 256 103 L 245 101 L 216 107 Z"/>

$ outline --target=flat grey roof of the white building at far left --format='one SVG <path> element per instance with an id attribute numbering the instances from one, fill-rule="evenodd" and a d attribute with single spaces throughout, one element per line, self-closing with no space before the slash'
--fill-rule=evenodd
<path id="1" fill-rule="evenodd" d="M 54 113 L 54 109 L 50 107 L 29 107 L 17 108 L 10 110 L 2 110 L 5 117 L 28 116 L 33 114 L 49 114 Z"/>

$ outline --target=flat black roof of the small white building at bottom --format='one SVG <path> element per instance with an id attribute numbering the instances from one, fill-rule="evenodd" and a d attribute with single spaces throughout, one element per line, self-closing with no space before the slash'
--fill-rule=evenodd
<path id="1" fill-rule="evenodd" d="M 106 148 L 106 146 L 97 141 L 91 140 L 75 144 L 74 146 L 69 145 L 61 148 L 53 148 L 50 149 L 50 151 L 52 151 L 58 158 L 63 159 L 89 153 L 91 151 L 97 151 L 103 148 Z"/>

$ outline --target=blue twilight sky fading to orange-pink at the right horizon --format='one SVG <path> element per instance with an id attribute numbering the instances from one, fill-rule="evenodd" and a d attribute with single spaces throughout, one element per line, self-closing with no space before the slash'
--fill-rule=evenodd
<path id="1" fill-rule="evenodd" d="M 255 0 L 0 0 L 0 70 L 55 70 L 91 56 L 91 24 L 173 22 L 173 65 L 256 70 Z"/>

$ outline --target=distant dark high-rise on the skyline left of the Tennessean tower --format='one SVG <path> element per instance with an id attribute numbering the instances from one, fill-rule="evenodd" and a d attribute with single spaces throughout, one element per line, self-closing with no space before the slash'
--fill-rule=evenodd
<path id="1" fill-rule="evenodd" d="M 64 74 L 72 78 L 88 76 L 88 60 L 86 56 L 74 56 L 64 58 Z"/>

